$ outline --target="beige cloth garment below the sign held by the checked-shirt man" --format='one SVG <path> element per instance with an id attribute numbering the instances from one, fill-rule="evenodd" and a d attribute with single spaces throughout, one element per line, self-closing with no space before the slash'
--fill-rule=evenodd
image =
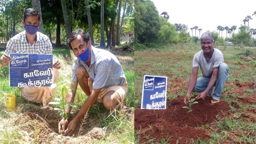
<path id="1" fill-rule="evenodd" d="M 46 105 L 55 97 L 55 90 L 51 87 L 20 87 L 21 96 L 29 102 L 42 102 Z"/>

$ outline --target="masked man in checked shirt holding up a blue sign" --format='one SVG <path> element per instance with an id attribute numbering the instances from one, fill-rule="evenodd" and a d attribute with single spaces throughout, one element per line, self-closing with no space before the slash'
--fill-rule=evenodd
<path id="1" fill-rule="evenodd" d="M 52 44 L 49 38 L 38 31 L 41 25 L 40 13 L 33 8 L 24 11 L 22 24 L 25 31 L 13 36 L 6 45 L 6 50 L 0 58 L 1 65 L 6 67 L 11 61 L 10 53 L 52 54 Z M 54 88 L 59 77 L 60 62 L 52 65 L 52 87 L 20 87 L 21 96 L 29 102 L 42 102 L 43 106 L 52 101 Z"/>

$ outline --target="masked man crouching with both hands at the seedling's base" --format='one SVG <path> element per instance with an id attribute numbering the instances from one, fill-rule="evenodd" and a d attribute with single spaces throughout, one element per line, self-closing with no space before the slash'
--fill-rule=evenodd
<path id="1" fill-rule="evenodd" d="M 76 58 L 72 67 L 70 87 L 66 96 L 67 102 L 74 102 L 76 88 L 79 84 L 84 93 L 88 96 L 81 110 L 68 124 L 68 118 L 62 119 L 59 129 L 64 130 L 65 136 L 71 136 L 77 122 L 92 107 L 96 100 L 102 102 L 107 110 L 113 109 L 124 98 L 128 91 L 124 71 L 116 56 L 104 49 L 97 49 L 91 45 L 90 36 L 84 30 L 77 29 L 68 39 L 69 47 L 73 50 Z M 68 106 L 65 113 L 70 113 L 71 106 Z M 68 127 L 67 127 L 68 125 Z"/>

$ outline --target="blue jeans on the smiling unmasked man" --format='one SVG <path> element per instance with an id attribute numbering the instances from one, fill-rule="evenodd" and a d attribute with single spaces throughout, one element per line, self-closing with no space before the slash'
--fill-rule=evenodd
<path id="1" fill-rule="evenodd" d="M 221 63 L 219 66 L 219 72 L 216 79 L 216 82 L 214 84 L 215 90 L 212 95 L 212 99 L 219 100 L 221 91 L 228 80 L 228 65 L 226 63 Z M 193 89 L 193 92 L 202 93 L 207 88 L 208 83 L 210 81 L 211 77 L 201 77 L 196 80 L 196 86 Z M 213 89 L 213 88 L 212 88 Z M 208 93 L 209 95 L 212 94 L 212 89 Z"/>

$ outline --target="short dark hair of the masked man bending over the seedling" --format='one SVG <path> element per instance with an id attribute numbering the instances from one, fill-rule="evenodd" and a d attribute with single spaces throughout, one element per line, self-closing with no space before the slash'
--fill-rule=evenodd
<path id="1" fill-rule="evenodd" d="M 70 42 L 72 42 L 74 39 L 76 39 L 76 37 L 78 35 L 81 35 L 84 39 L 84 42 L 86 42 L 86 44 L 88 44 L 88 41 L 90 40 L 90 35 L 88 33 L 86 33 L 84 30 L 82 29 L 77 29 L 75 30 L 71 35 L 70 37 L 68 38 L 68 45 L 69 45 L 69 48 L 73 51 L 72 47 L 71 47 L 71 44 Z"/>

